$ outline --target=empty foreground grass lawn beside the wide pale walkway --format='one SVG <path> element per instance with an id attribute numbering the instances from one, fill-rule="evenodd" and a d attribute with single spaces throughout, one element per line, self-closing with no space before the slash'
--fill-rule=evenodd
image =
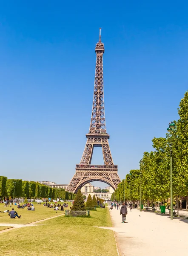
<path id="1" fill-rule="evenodd" d="M 2 233 L 1 244 L 6 246 L 0 251 L 16 256 L 117 256 L 113 231 L 95 226 L 111 226 L 108 209 L 91 211 L 91 218 L 60 216 L 35 227 Z M 10 237 L 16 238 L 15 243 Z"/>

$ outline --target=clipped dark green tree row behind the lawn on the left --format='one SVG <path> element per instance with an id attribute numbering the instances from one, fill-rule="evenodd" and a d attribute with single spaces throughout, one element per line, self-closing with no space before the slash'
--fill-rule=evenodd
<path id="1" fill-rule="evenodd" d="M 51 188 L 35 181 L 7 179 L 0 176 L 0 198 L 61 198 L 73 200 L 74 194 L 64 189 Z"/>

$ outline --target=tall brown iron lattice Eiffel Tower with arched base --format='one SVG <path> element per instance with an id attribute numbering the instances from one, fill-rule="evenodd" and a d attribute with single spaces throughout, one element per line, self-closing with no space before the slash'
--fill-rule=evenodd
<path id="1" fill-rule="evenodd" d="M 104 44 L 101 42 L 101 29 L 99 42 L 96 44 L 97 55 L 94 82 L 94 98 L 91 113 L 89 133 L 86 134 L 87 142 L 83 151 L 80 164 L 76 165 L 76 173 L 68 184 L 66 191 L 77 193 L 85 184 L 91 181 L 103 181 L 113 189 L 120 183 L 117 174 L 117 165 L 112 160 L 108 144 L 109 134 L 106 132 L 104 90 L 103 90 L 103 53 Z M 102 147 L 104 165 L 91 164 L 94 147 Z"/>

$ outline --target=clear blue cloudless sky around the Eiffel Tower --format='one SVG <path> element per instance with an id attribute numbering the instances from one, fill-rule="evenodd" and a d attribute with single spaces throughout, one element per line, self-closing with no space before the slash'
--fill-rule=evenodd
<path id="1" fill-rule="evenodd" d="M 186 1 L 1 1 L 0 175 L 69 183 L 90 124 L 99 27 L 112 157 L 121 179 L 137 169 L 188 89 L 187 13 Z"/>

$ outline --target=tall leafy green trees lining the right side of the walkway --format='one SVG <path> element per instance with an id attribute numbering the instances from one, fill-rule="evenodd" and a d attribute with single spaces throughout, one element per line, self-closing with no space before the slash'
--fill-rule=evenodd
<path id="1" fill-rule="evenodd" d="M 188 210 L 188 91 L 179 104 L 178 114 L 179 120 L 174 121 L 174 128 L 168 129 L 170 133 L 164 138 L 154 137 L 154 151 L 144 152 L 140 169 L 131 170 L 126 175 L 113 193 L 112 200 L 139 200 L 141 178 L 142 198 L 145 201 L 168 200 L 172 155 L 174 201 L 179 204 L 187 197 Z"/>

